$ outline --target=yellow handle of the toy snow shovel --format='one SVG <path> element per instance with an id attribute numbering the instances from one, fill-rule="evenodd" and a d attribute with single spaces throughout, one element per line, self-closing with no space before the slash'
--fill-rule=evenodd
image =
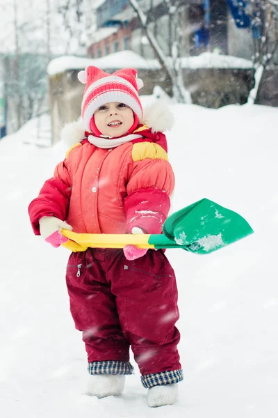
<path id="1" fill-rule="evenodd" d="M 124 248 L 126 245 L 136 245 L 138 248 L 153 248 L 149 244 L 149 234 L 120 234 L 120 233 L 76 233 L 62 229 L 62 234 L 69 240 L 63 247 L 73 252 L 85 251 L 91 248 Z"/>

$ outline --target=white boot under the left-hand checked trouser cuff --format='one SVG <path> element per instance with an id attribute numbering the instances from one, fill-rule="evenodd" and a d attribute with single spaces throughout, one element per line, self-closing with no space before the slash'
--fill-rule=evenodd
<path id="1" fill-rule="evenodd" d="M 124 392 L 124 375 L 90 375 L 86 395 L 105 398 L 105 396 L 117 396 Z"/>

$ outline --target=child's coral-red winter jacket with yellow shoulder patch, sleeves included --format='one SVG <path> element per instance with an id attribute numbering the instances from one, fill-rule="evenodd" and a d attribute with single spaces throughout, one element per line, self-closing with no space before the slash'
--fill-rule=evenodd
<path id="1" fill-rule="evenodd" d="M 139 130 L 142 139 L 117 148 L 87 139 L 71 148 L 28 207 L 34 233 L 40 235 L 43 216 L 65 220 L 77 233 L 131 233 L 133 226 L 161 233 L 174 173 L 165 135 Z"/>

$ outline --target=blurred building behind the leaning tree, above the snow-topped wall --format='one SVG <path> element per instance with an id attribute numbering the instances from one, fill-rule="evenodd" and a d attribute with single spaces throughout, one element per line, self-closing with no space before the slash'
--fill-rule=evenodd
<path id="1" fill-rule="evenodd" d="M 138 3 L 147 13 L 149 0 L 138 0 Z M 167 8 L 163 0 L 154 0 L 153 4 L 149 25 L 163 52 L 170 55 L 171 28 Z M 183 22 L 182 56 L 211 51 L 251 58 L 251 33 L 236 29 L 227 0 L 184 0 L 179 13 Z M 93 15 L 92 11 L 90 15 Z M 100 58 L 124 49 L 131 49 L 146 59 L 154 58 L 154 51 L 129 1 L 99 1 L 93 29 L 92 24 L 88 25 L 87 56 Z"/>

